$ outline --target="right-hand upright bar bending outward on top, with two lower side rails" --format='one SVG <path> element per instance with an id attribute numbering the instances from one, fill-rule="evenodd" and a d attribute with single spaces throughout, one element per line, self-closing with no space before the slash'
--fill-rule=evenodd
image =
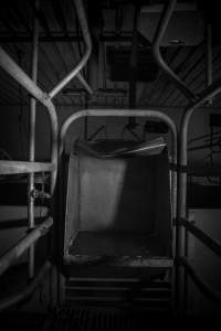
<path id="1" fill-rule="evenodd" d="M 214 302 L 221 303 L 221 293 L 218 295 L 213 289 L 211 289 L 210 286 L 203 280 L 203 278 L 191 267 L 188 258 L 187 258 L 187 236 L 186 232 L 192 233 L 196 237 L 198 237 L 199 241 L 201 241 L 208 248 L 212 249 L 217 255 L 220 254 L 221 249 L 221 243 L 214 241 L 213 238 L 209 237 L 206 233 L 203 233 L 201 229 L 199 229 L 197 226 L 193 227 L 193 225 L 188 224 L 187 220 L 187 178 L 188 178 L 188 130 L 189 130 L 189 124 L 190 119 L 197 110 L 198 107 L 200 107 L 202 104 L 207 103 L 209 99 L 217 96 L 219 93 L 221 93 L 221 78 L 219 78 L 217 82 L 211 84 L 209 87 L 207 87 L 203 93 L 200 95 L 199 99 L 196 103 L 190 104 L 187 106 L 180 124 L 180 152 L 178 157 L 178 247 L 177 247 L 177 256 L 181 260 L 179 264 L 185 268 L 185 270 L 189 274 L 191 278 L 194 278 L 193 280 L 196 285 L 199 282 L 200 285 L 203 284 L 203 286 L 200 286 L 200 288 L 203 287 L 203 289 L 207 289 L 204 293 L 207 293 L 207 297 L 210 299 L 213 299 Z M 182 263 L 185 259 L 185 264 Z M 186 273 L 185 271 L 185 273 Z M 187 296 L 185 293 L 186 289 L 186 282 L 187 277 L 183 275 L 182 271 L 179 271 L 180 274 L 180 296 L 181 298 Z M 218 297 L 220 300 L 218 300 Z M 183 300 L 180 300 L 180 302 Z M 182 307 L 181 307 L 182 309 Z"/>

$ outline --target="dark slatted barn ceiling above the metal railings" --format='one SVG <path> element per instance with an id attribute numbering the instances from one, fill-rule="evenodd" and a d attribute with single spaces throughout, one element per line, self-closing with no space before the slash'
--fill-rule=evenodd
<path id="1" fill-rule="evenodd" d="M 113 92 L 124 92 L 109 95 L 96 93 L 87 100 L 92 106 L 128 106 L 128 83 L 112 79 L 107 47 L 112 46 L 116 50 L 125 46 L 131 47 L 134 11 L 131 2 L 99 0 L 87 1 L 86 3 L 92 34 L 97 38 L 94 45 L 98 54 L 98 88 L 99 90 L 106 88 Z M 160 17 L 161 2 L 165 1 L 139 2 L 143 8 L 143 22 L 141 20 L 138 22 L 138 25 L 141 24 L 139 25 L 139 28 L 141 26 L 139 30 L 140 47 L 144 52 L 150 52 L 151 35 Z M 38 11 L 33 3 L 34 1 L 30 0 L 2 1 L 0 44 L 30 75 L 32 21 L 35 14 L 40 23 L 38 84 L 42 89 L 49 92 L 75 66 L 84 52 L 84 44 L 73 0 L 41 0 Z M 215 19 L 215 7 L 210 6 L 210 11 L 208 11 L 208 8 L 202 6 L 202 1 L 178 1 L 178 6 L 180 6 L 180 10 L 177 10 L 178 17 L 173 19 L 179 22 L 179 29 L 176 29 L 177 23 L 175 22 L 175 26 L 171 25 L 168 30 L 170 32 L 167 36 L 169 36 L 165 39 L 162 44 L 164 58 L 187 86 L 194 94 L 199 94 L 207 86 L 208 22 L 211 22 L 212 29 L 212 79 L 215 81 L 221 76 L 219 20 Z M 196 14 L 199 23 L 196 23 Z M 192 28 L 191 24 L 198 25 Z M 179 38 L 176 39 L 178 30 Z M 144 31 L 148 31 L 149 34 Z M 86 78 L 87 72 L 87 70 L 83 72 Z M 137 107 L 179 107 L 187 104 L 182 93 L 161 71 L 151 82 L 138 82 L 137 86 Z M 55 98 L 55 104 L 83 106 L 85 93 L 82 90 L 81 83 L 74 78 L 67 88 L 72 93 L 67 93 L 67 90 L 60 93 Z M 0 70 L 0 105 L 25 105 L 29 102 L 28 98 L 28 94 Z M 220 105 L 221 97 L 218 96 L 213 100 L 213 106 L 219 107 Z"/>

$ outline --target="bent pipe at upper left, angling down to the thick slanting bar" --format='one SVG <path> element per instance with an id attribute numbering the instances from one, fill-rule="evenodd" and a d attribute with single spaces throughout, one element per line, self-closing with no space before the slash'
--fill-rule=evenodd
<path id="1" fill-rule="evenodd" d="M 82 0 L 74 0 L 74 3 L 76 8 L 78 22 L 82 29 L 82 34 L 86 44 L 86 51 L 80 63 L 75 66 L 75 68 L 49 93 L 50 98 L 53 98 L 69 82 L 71 82 L 71 79 L 73 79 L 81 72 L 92 53 L 92 41 Z"/>

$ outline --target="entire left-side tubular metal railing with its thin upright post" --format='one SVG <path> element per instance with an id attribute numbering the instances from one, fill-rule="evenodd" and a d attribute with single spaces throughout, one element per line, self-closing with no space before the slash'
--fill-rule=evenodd
<path id="1" fill-rule="evenodd" d="M 50 229 L 53 224 L 53 218 L 49 217 L 35 227 L 34 224 L 34 173 L 35 172 L 51 172 L 50 195 L 52 196 L 55 189 L 57 177 L 57 116 L 52 98 L 75 76 L 83 83 L 88 93 L 92 93 L 91 87 L 85 82 L 80 71 L 86 64 L 91 51 L 92 42 L 88 32 L 86 15 L 81 0 L 74 0 L 78 22 L 82 29 L 83 39 L 86 44 L 86 51 L 83 58 L 74 67 L 74 70 L 60 82 L 50 93 L 43 92 L 36 84 L 38 78 L 38 49 L 39 49 L 39 22 L 38 18 L 33 18 L 33 52 L 32 52 L 32 73 L 31 78 L 23 72 L 23 70 L 0 47 L 0 67 L 2 67 L 10 76 L 12 76 L 22 87 L 24 87 L 31 95 L 30 102 L 30 135 L 29 135 L 29 161 L 0 161 L 0 174 L 29 174 L 29 190 L 28 190 L 28 207 L 29 207 L 29 228 L 30 233 L 22 238 L 17 245 L 9 249 L 0 257 L 0 275 L 2 275 L 11 264 L 19 258 L 27 249 L 29 250 L 29 277 L 34 277 L 34 243 Z M 35 10 L 39 10 L 39 0 L 35 0 Z M 51 159 L 50 162 L 35 162 L 35 106 L 39 100 L 45 106 L 50 117 L 51 125 Z M 22 300 L 25 296 L 31 293 L 38 284 L 43 279 L 45 273 L 51 268 L 51 264 L 46 261 L 39 274 L 31 280 L 27 288 L 21 292 L 6 298 L 0 301 L 0 310 Z"/>

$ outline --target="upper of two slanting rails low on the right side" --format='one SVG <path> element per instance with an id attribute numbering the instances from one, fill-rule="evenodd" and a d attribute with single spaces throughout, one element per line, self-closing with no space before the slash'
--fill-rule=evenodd
<path id="1" fill-rule="evenodd" d="M 189 231 L 194 237 L 197 237 L 201 243 L 203 243 L 208 248 L 210 248 L 213 253 L 221 257 L 221 243 L 210 237 L 207 233 L 204 233 L 201 228 L 193 225 L 191 222 L 187 220 L 180 220 L 180 225 L 183 225 L 187 231 Z"/>

